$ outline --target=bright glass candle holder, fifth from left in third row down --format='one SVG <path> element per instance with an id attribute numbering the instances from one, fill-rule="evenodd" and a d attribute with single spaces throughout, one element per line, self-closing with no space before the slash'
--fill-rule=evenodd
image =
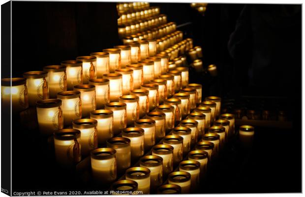
<path id="1" fill-rule="evenodd" d="M 119 98 L 119 102 L 126 103 L 127 126 L 133 126 L 134 121 L 139 119 L 139 97 L 135 95 L 124 95 Z"/>

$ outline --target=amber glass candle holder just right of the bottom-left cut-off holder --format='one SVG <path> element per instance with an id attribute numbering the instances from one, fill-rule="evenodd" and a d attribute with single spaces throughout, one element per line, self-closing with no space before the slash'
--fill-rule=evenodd
<path id="1" fill-rule="evenodd" d="M 126 170 L 125 178 L 138 183 L 138 191 L 150 194 L 151 170 L 146 167 L 130 167 Z"/>

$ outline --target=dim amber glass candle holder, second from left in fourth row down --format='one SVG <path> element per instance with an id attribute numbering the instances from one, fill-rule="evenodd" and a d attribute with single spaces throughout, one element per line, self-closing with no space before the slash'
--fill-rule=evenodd
<path id="1" fill-rule="evenodd" d="M 116 150 L 117 172 L 123 174 L 131 164 L 130 139 L 126 137 L 113 137 L 107 140 L 107 147 Z"/>

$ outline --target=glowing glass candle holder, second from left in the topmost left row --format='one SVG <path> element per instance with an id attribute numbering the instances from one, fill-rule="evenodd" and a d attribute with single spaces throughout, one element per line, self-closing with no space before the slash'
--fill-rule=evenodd
<path id="1" fill-rule="evenodd" d="M 48 72 L 30 71 L 23 73 L 27 79 L 29 105 L 36 106 L 36 101 L 49 99 Z"/>

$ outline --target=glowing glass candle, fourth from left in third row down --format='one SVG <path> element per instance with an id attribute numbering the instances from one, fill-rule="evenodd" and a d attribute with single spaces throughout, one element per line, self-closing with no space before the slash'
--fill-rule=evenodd
<path id="1" fill-rule="evenodd" d="M 105 109 L 113 111 L 113 133 L 117 135 L 127 126 L 126 104 L 123 102 L 109 102 Z"/>

